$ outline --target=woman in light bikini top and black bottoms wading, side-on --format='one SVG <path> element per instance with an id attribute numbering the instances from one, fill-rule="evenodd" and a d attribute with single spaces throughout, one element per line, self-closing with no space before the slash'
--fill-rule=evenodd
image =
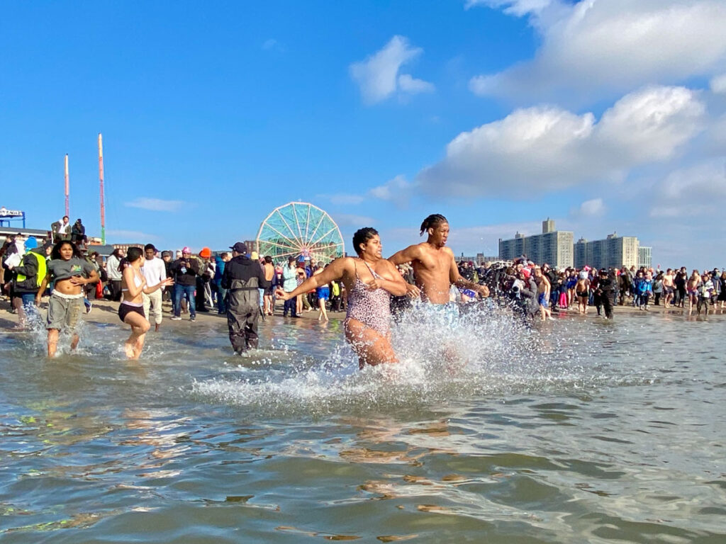
<path id="1" fill-rule="evenodd" d="M 174 284 L 174 280 L 166 278 L 158 284 L 148 287 L 146 278 L 141 273 L 141 267 L 144 264 L 142 257 L 142 249 L 140 247 L 129 247 L 126 253 L 126 262 L 128 266 L 121 273 L 121 293 L 123 299 L 121 305 L 118 306 L 118 318 L 131 325 L 131 336 L 124 343 L 123 347 L 126 351 L 126 357 L 129 359 L 138 359 L 144 349 L 144 338 L 151 324 L 144 315 L 144 298 L 142 293 L 152 294 L 158 289 L 163 289 L 167 285 Z"/>

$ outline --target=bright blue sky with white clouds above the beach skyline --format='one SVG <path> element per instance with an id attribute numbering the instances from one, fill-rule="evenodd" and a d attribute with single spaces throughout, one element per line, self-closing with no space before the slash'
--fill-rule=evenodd
<path id="1" fill-rule="evenodd" d="M 648 24 L 644 24 L 644 22 Z M 226 247 L 309 201 L 384 253 L 429 213 L 454 252 L 548 216 L 654 263 L 726 266 L 717 0 L 13 3 L 0 205 L 110 242 Z"/>

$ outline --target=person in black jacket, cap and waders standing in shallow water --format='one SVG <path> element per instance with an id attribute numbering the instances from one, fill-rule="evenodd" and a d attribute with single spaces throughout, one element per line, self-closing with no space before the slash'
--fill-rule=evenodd
<path id="1" fill-rule="evenodd" d="M 224 266 L 221 287 L 227 289 L 227 326 L 229 342 L 237 355 L 250 347 L 257 347 L 257 320 L 260 314 L 258 289 L 266 289 L 270 282 L 256 260 L 247 254 L 244 242 L 230 247 L 232 260 Z"/>

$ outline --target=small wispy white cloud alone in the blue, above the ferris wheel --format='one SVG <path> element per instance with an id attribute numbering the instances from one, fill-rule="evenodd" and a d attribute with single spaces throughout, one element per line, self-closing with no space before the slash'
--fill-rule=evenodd
<path id="1" fill-rule="evenodd" d="M 420 93 L 433 90 L 433 85 L 411 75 L 399 77 L 401 66 L 415 59 L 423 49 L 412 47 L 404 36 L 393 36 L 383 49 L 350 67 L 351 78 L 358 83 L 364 102 L 381 102 L 396 91 Z"/>

